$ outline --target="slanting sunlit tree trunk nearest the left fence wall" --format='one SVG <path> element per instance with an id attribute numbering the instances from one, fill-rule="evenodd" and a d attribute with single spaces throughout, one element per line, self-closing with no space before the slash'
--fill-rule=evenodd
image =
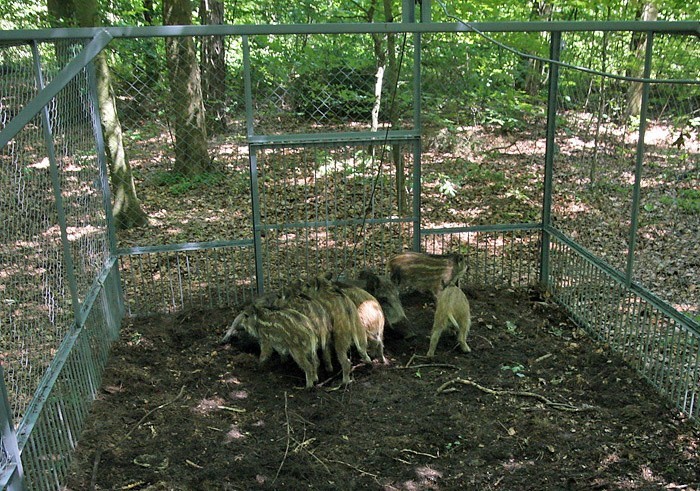
<path id="1" fill-rule="evenodd" d="M 101 24 L 97 0 L 73 0 L 71 2 L 49 0 L 48 4 L 52 14 L 58 12 L 56 9 L 60 8 L 62 19 L 71 25 L 94 27 Z M 100 121 L 111 181 L 112 214 L 115 225 L 120 229 L 145 225 L 147 216 L 136 196 L 131 166 L 124 151 L 122 127 L 117 113 L 116 98 L 112 89 L 111 73 L 105 51 L 95 57 L 94 64 Z"/>

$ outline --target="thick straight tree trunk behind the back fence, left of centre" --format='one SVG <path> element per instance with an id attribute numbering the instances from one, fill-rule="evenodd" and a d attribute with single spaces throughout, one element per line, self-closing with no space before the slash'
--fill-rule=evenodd
<path id="1" fill-rule="evenodd" d="M 189 0 L 163 0 L 163 23 L 191 23 Z M 194 175 L 213 169 L 207 149 L 207 129 L 197 52 L 191 37 L 168 37 L 165 53 L 170 79 L 171 114 L 175 128 L 174 171 Z"/>

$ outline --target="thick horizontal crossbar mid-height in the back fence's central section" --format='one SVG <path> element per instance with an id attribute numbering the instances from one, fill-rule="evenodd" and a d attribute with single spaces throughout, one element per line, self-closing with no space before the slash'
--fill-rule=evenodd
<path id="1" fill-rule="evenodd" d="M 346 131 L 339 133 L 299 133 L 296 135 L 253 135 L 248 143 L 254 146 L 271 147 L 283 145 L 307 145 L 313 143 L 395 143 L 415 141 L 420 138 L 420 131 Z"/>

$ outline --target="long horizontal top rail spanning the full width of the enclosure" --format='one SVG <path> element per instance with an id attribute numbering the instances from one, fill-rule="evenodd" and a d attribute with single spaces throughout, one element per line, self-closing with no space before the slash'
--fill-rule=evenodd
<path id="1" fill-rule="evenodd" d="M 324 23 L 278 25 L 216 25 L 216 26 L 143 26 L 104 28 L 61 28 L 0 31 L 0 45 L 4 42 L 36 39 L 92 38 L 106 30 L 115 38 L 172 37 L 172 36 L 254 36 L 285 34 L 371 34 L 371 33 L 436 33 L 470 32 L 472 27 L 481 32 L 581 32 L 581 31 L 638 31 L 673 34 L 700 34 L 700 21 L 554 21 L 554 22 L 430 22 L 430 23 Z"/>

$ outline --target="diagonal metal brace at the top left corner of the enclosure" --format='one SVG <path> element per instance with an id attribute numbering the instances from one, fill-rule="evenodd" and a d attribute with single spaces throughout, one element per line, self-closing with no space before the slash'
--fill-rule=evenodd
<path id="1" fill-rule="evenodd" d="M 7 31 L 0 31 L 0 39 L 2 39 L 4 32 Z M 41 90 L 34 99 L 29 101 L 29 104 L 24 106 L 17 116 L 7 123 L 7 126 L 0 132 L 0 148 L 4 148 L 32 118 L 39 114 L 41 109 L 68 85 L 80 73 L 80 70 L 85 68 L 109 44 L 111 39 L 112 36 L 108 32 L 104 30 L 96 31 L 95 38 L 59 72 L 49 85 Z"/>

